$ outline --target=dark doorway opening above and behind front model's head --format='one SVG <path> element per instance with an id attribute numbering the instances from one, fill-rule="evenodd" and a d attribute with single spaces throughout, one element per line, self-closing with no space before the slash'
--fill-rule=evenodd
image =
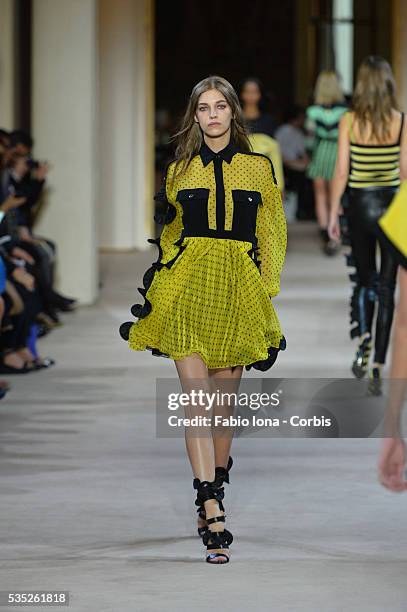
<path id="1" fill-rule="evenodd" d="M 264 84 L 278 114 L 294 98 L 295 0 L 156 1 L 156 106 L 179 115 L 195 83 L 219 74 Z"/>

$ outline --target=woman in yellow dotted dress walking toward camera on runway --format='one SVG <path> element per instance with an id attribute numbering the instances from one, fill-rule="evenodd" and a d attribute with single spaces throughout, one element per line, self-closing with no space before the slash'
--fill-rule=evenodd
<path id="1" fill-rule="evenodd" d="M 269 370 L 285 338 L 271 298 L 279 293 L 287 230 L 271 160 L 253 153 L 233 87 L 221 77 L 198 83 L 177 135 L 176 159 L 157 198 L 166 206 L 157 261 L 145 272 L 139 320 L 121 325 L 134 350 L 175 361 L 184 391 L 236 392 L 243 367 Z M 222 402 L 212 415 L 231 414 Z M 187 415 L 204 408 L 186 407 Z M 193 435 L 188 456 L 206 561 L 227 563 L 224 527 L 233 431 Z"/>

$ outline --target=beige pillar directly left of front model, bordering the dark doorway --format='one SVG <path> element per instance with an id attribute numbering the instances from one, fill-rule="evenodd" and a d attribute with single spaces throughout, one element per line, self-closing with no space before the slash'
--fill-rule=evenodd
<path id="1" fill-rule="evenodd" d="M 153 232 L 153 0 L 99 0 L 100 246 Z"/>

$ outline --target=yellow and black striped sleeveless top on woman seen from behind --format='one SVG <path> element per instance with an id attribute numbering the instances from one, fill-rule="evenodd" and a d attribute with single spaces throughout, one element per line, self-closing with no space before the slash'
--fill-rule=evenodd
<path id="1" fill-rule="evenodd" d="M 351 117 L 347 113 L 350 133 L 350 169 L 348 186 L 398 187 L 400 185 L 400 142 L 404 124 L 401 114 L 400 133 L 394 144 L 360 144 L 354 142 Z"/>

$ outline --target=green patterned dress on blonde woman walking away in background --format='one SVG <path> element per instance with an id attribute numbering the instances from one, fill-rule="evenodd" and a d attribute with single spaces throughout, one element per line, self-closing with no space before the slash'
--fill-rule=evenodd
<path id="1" fill-rule="evenodd" d="M 314 136 L 312 160 L 307 175 L 331 180 L 338 148 L 339 120 L 347 111 L 344 104 L 319 105 L 307 108 L 306 128 Z"/>

